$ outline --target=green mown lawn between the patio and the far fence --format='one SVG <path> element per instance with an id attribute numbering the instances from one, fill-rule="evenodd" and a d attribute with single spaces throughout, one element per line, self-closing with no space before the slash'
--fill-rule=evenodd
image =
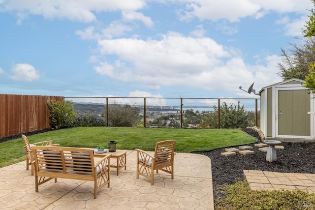
<path id="1" fill-rule="evenodd" d="M 257 139 L 238 129 L 166 129 L 134 127 L 76 127 L 28 136 L 30 143 L 53 140 L 62 147 L 96 148 L 116 141 L 117 149 L 154 151 L 159 141 L 175 139 L 176 152 L 207 151 L 250 144 Z M 0 143 L 0 167 L 25 160 L 22 137 Z"/>

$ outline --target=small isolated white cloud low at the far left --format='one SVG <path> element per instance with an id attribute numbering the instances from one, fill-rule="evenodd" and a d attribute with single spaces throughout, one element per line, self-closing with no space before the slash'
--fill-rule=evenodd
<path id="1" fill-rule="evenodd" d="M 18 81 L 31 82 L 40 78 L 40 72 L 28 63 L 14 64 L 11 68 L 11 73 L 10 78 Z"/>

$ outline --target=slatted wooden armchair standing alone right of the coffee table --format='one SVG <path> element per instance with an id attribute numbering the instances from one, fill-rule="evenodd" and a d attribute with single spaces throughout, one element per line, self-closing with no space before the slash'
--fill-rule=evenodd
<path id="1" fill-rule="evenodd" d="M 158 142 L 154 155 L 140 149 L 137 151 L 137 179 L 139 175 L 151 180 L 151 185 L 154 184 L 154 171 L 158 170 L 171 174 L 174 179 L 174 150 L 176 140 L 168 140 Z"/>

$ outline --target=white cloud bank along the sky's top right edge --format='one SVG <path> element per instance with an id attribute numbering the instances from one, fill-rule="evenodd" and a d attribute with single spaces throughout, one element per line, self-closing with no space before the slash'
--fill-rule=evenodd
<path id="1" fill-rule="evenodd" d="M 217 29 L 222 30 L 226 34 L 235 34 L 237 28 L 228 26 L 224 21 L 238 22 L 242 18 L 254 17 L 262 18 L 268 13 L 276 14 L 295 13 L 300 15 L 299 18 L 283 22 L 283 30 L 285 35 L 298 36 L 301 35 L 301 28 L 305 25 L 305 21 L 310 14 L 308 9 L 313 8 L 310 0 L 184 0 L 187 3 L 186 9 L 177 12 L 181 21 L 189 21 L 194 17 L 200 20 L 219 21 Z M 228 5 L 228 6 L 226 6 Z M 278 24 L 281 22 L 278 21 Z M 282 28 L 282 26 L 280 26 Z"/>

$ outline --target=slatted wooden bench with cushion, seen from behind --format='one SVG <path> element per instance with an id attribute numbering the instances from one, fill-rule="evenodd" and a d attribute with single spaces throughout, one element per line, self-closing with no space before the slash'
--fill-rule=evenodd
<path id="1" fill-rule="evenodd" d="M 33 146 L 35 191 L 38 186 L 57 178 L 94 181 L 94 198 L 97 191 L 110 182 L 110 155 L 96 163 L 92 149 Z"/>

